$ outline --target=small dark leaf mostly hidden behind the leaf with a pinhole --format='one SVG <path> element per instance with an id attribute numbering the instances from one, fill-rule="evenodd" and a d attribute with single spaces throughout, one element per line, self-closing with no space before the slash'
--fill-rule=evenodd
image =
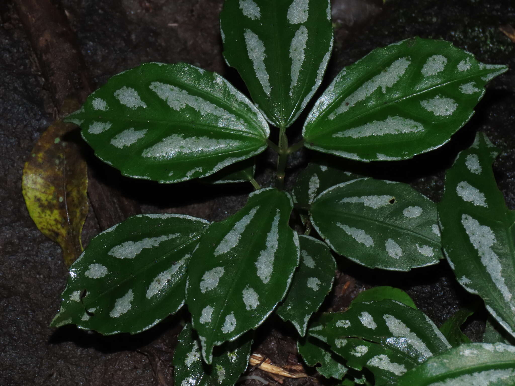
<path id="1" fill-rule="evenodd" d="M 355 180 L 363 176 L 330 166 L 310 163 L 302 170 L 293 188 L 293 199 L 303 207 L 309 207 L 315 197 L 331 186 Z"/>

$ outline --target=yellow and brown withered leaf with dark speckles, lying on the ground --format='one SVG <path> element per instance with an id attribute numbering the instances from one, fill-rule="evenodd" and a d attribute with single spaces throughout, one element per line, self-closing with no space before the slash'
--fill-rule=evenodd
<path id="1" fill-rule="evenodd" d="M 61 245 L 67 267 L 82 253 L 80 234 L 88 214 L 88 166 L 73 142 L 73 125 L 56 121 L 32 149 L 22 189 L 38 229 Z"/>

